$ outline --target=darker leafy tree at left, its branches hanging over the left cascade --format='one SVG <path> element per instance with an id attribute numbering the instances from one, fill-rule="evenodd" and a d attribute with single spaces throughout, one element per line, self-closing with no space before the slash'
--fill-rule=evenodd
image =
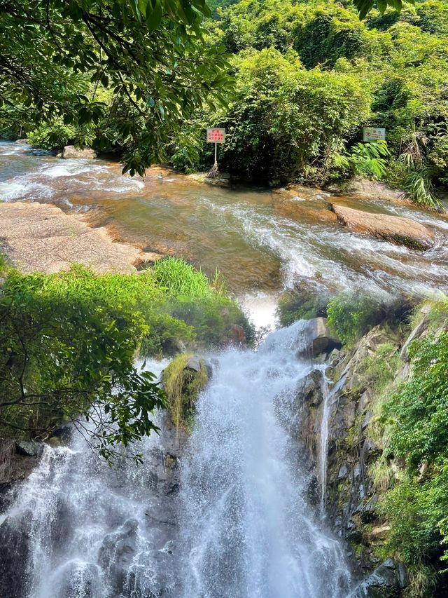
<path id="1" fill-rule="evenodd" d="M 3 283 L 0 424 L 48 437 L 69 420 L 111 459 L 115 444 L 156 430 L 151 413 L 165 405 L 153 374 L 134 367 L 144 318 L 54 281 L 8 271 Z"/>

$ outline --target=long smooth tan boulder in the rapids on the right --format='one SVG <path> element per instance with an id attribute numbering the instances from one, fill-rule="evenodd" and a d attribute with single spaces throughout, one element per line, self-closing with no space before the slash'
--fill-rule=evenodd
<path id="1" fill-rule="evenodd" d="M 367 233 L 415 250 L 430 249 L 434 245 L 433 231 L 410 218 L 353 210 L 337 203 L 331 203 L 330 206 L 339 222 L 358 233 Z"/>

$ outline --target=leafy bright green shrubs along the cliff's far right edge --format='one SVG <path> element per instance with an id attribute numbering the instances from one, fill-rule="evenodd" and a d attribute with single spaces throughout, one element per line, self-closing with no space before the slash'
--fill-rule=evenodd
<path id="1" fill-rule="evenodd" d="M 441 315 L 446 322 L 446 300 L 435 311 L 428 334 L 409 346 L 412 375 L 386 395 L 379 418 L 383 432 L 388 430 L 384 454 L 403 465 L 381 498 L 379 515 L 391 522 L 389 550 L 410 566 L 421 590 L 414 595 L 422 596 L 432 595 L 448 538 L 448 332 L 430 332 L 442 324 Z"/>

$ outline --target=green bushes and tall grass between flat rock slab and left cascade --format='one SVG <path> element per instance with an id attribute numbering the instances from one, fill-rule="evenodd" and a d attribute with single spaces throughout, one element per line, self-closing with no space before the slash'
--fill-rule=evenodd
<path id="1" fill-rule="evenodd" d="M 47 438 L 71 421 L 106 458 L 114 446 L 155 428 L 165 405 L 154 376 L 136 358 L 214 346 L 235 323 L 237 304 L 179 259 L 139 275 L 22 274 L 3 263 L 0 294 L 2 435 Z M 188 299 L 185 299 L 188 297 Z M 192 304 L 202 306 L 193 315 Z M 173 315 L 174 314 L 174 315 Z M 186 321 L 188 320 L 188 321 Z"/>

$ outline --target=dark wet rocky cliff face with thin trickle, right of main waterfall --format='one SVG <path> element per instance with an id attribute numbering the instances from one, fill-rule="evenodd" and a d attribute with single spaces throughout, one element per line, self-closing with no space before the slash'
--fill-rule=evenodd
<path id="1" fill-rule="evenodd" d="M 422 309 L 407 337 L 380 325 L 350 350 L 321 355 L 297 388 L 302 412 L 297 433 L 307 447 L 316 488 L 321 484 L 317 494 L 323 494 L 328 524 L 347 545 L 354 575 L 363 579 L 353 598 L 404 596 L 409 583 L 405 567 L 384 561 L 380 550 L 390 528 L 375 509 L 386 488 L 372 474 L 382 456 L 372 423 L 384 383 L 389 388 L 409 379 L 407 347 L 428 333 L 427 311 Z M 390 464 L 392 471 L 400 470 L 400 463 Z"/>

